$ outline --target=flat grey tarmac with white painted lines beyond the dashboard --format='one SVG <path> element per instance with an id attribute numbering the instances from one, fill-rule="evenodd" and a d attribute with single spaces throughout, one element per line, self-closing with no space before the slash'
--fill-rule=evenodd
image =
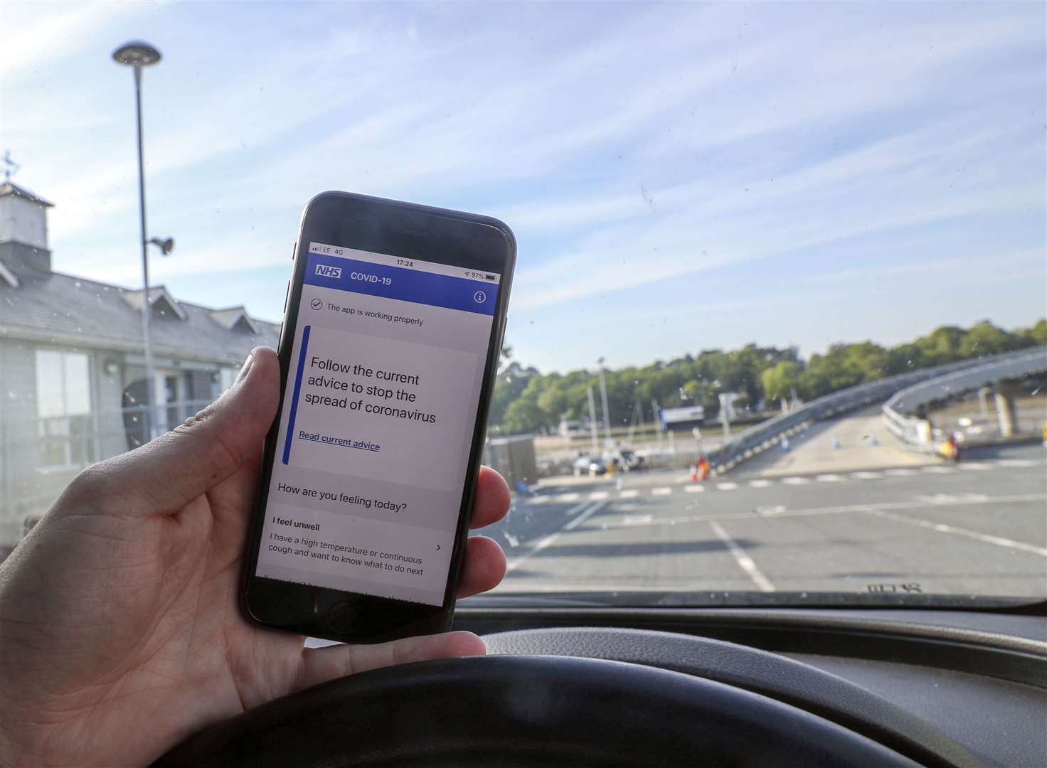
<path id="1" fill-rule="evenodd" d="M 484 533 L 508 556 L 503 592 L 1043 598 L 1045 454 L 1033 445 L 972 453 L 955 466 L 784 475 L 751 467 L 705 483 L 677 470 L 626 475 L 620 487 L 565 482 L 515 499 L 508 518 Z"/>

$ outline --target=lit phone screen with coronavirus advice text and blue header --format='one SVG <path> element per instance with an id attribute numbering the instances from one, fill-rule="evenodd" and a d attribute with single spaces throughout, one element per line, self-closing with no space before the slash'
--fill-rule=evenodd
<path id="1" fill-rule="evenodd" d="M 502 275 L 303 257 L 255 575 L 440 606 Z"/>

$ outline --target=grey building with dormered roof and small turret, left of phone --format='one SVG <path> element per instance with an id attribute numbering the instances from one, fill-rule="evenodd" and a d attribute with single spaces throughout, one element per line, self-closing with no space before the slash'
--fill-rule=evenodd
<path id="1" fill-rule="evenodd" d="M 84 467 L 170 429 L 233 381 L 280 326 L 243 307 L 179 301 L 55 272 L 51 203 L 0 184 L 0 559 Z M 156 403 L 146 386 L 151 314 Z"/>

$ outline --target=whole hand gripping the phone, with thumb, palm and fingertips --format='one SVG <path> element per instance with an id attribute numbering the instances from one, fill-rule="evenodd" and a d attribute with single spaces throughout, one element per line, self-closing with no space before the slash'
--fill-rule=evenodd
<path id="1" fill-rule="evenodd" d="M 257 348 L 219 400 L 138 450 L 82 472 L 0 567 L 0 765 L 144 764 L 209 723 L 325 680 L 481 655 L 468 632 L 304 649 L 257 629 L 237 592 L 262 441 L 279 400 Z M 472 525 L 506 514 L 484 468 Z M 506 559 L 469 539 L 459 594 Z"/>

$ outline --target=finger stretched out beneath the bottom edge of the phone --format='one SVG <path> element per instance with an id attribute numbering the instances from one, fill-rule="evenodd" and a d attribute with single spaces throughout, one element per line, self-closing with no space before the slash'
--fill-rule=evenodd
<path id="1" fill-rule="evenodd" d="M 407 637 L 375 646 L 307 648 L 302 653 L 298 688 L 382 667 L 458 656 L 483 656 L 486 653 L 484 641 L 472 632 Z"/>

